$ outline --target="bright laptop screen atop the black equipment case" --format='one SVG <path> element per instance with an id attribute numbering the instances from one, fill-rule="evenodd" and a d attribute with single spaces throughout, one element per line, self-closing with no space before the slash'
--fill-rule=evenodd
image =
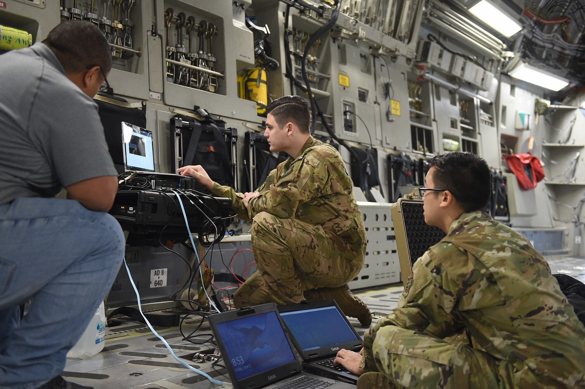
<path id="1" fill-rule="evenodd" d="M 126 170 L 154 172 L 152 131 L 122 121 Z"/>

